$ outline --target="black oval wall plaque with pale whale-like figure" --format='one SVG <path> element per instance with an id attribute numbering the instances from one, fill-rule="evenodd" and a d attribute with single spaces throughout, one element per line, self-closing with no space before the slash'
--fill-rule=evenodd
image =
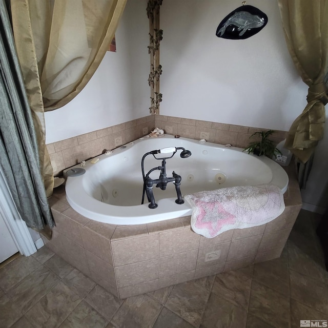
<path id="1" fill-rule="evenodd" d="M 250 5 L 241 6 L 222 19 L 216 36 L 225 39 L 247 39 L 268 23 L 268 16 Z"/>

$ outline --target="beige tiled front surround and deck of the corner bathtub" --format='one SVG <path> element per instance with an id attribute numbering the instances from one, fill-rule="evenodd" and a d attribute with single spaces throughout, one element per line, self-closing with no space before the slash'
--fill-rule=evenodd
<path id="1" fill-rule="evenodd" d="M 190 228 L 190 216 L 138 226 L 85 218 L 68 204 L 64 187 L 50 198 L 56 221 L 47 247 L 112 294 L 126 298 L 280 256 L 301 208 L 296 177 L 275 220 L 207 239 Z"/>

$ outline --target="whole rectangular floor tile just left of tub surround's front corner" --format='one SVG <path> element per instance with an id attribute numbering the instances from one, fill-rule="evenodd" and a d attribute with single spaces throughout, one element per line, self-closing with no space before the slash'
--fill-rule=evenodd
<path id="1" fill-rule="evenodd" d="M 122 304 L 122 300 L 104 290 L 99 285 L 95 285 L 85 300 L 103 317 L 110 320 L 114 313 Z"/>

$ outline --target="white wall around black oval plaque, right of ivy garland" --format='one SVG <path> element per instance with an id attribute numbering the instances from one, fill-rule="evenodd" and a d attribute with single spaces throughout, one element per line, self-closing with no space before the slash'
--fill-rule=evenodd
<path id="1" fill-rule="evenodd" d="M 245 40 L 215 35 L 240 0 L 164 0 L 160 12 L 163 73 L 160 114 L 288 131 L 306 105 L 302 82 L 285 44 L 274 0 L 253 0 L 268 24 Z M 328 120 L 327 120 L 328 121 Z M 328 127 L 317 147 L 308 187 L 309 210 L 326 207 Z"/>

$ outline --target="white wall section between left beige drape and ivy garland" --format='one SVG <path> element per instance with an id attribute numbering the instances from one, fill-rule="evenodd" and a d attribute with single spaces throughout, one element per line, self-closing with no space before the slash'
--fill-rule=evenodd
<path id="1" fill-rule="evenodd" d="M 107 52 L 87 86 L 66 106 L 45 113 L 46 143 L 149 115 L 147 0 L 128 0 Z"/>

